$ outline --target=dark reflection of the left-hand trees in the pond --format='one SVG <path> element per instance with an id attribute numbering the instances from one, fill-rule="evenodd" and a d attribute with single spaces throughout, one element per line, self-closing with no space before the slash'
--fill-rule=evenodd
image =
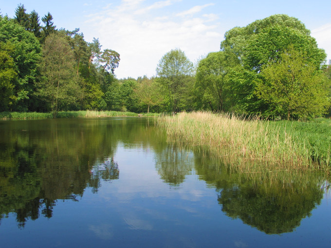
<path id="1" fill-rule="evenodd" d="M 100 180 L 119 178 L 112 154 L 120 124 L 73 122 L 4 123 L 7 126 L 1 130 L 0 140 L 0 220 L 15 213 L 18 227 L 24 228 L 28 219 L 36 220 L 40 215 L 51 218 L 57 200 L 77 201 L 85 188 L 92 187 L 96 192 Z M 105 154 L 110 157 L 99 163 Z"/>

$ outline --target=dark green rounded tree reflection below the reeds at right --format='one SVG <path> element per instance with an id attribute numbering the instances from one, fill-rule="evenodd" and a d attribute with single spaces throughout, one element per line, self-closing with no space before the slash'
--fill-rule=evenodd
<path id="1" fill-rule="evenodd" d="M 197 174 L 216 188 L 221 210 L 268 234 L 292 232 L 323 198 L 318 173 L 230 173 L 203 160 L 197 163 Z"/>

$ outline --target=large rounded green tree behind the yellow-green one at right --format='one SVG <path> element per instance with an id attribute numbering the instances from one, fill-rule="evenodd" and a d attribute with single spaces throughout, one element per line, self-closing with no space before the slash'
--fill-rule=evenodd
<path id="1" fill-rule="evenodd" d="M 319 70 L 326 54 L 297 18 L 274 15 L 225 34 L 221 50 L 238 58 L 237 69 L 229 77 L 237 102 L 246 113 L 270 116 L 273 107 L 257 96 L 256 82 L 263 80 L 261 68 L 276 63 L 291 45 L 306 53 L 307 62 Z"/>

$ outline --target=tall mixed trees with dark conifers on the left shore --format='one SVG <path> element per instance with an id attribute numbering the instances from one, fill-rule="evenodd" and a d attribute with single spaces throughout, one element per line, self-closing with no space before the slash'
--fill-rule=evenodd
<path id="1" fill-rule="evenodd" d="M 79 29 L 56 29 L 50 13 L 44 26 L 39 19 L 24 5 L 14 18 L 0 16 L 0 111 L 119 108 L 111 91 L 120 54 L 85 41 Z"/>

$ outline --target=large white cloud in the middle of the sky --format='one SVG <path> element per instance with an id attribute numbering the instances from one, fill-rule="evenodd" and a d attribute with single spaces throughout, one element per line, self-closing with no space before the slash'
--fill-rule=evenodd
<path id="1" fill-rule="evenodd" d="M 216 14 L 197 14 L 193 18 L 182 12 L 178 18 L 178 1 L 158 1 L 147 7 L 142 3 L 142 0 L 122 1 L 118 6 L 90 15 L 86 21 L 91 40 L 99 37 L 103 49 L 120 53 L 121 61 L 115 70 L 118 78 L 155 75 L 158 61 L 174 48 L 182 49 L 191 61 L 219 50 L 223 35 L 218 34 L 224 34 L 225 30 L 220 32 Z M 169 5 L 173 12 L 163 11 Z M 195 6 L 189 12 L 198 13 L 210 5 Z M 86 31 L 84 35 L 89 37 Z"/>

